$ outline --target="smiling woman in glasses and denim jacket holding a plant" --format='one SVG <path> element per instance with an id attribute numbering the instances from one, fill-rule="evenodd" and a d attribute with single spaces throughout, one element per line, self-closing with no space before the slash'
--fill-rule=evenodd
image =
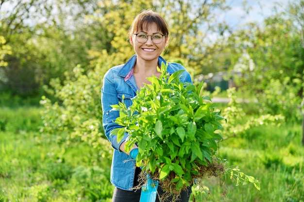
<path id="1" fill-rule="evenodd" d="M 129 107 L 132 104 L 131 98 L 136 92 L 149 83 L 146 79 L 155 75 L 160 76 L 157 66 L 166 61 L 160 57 L 163 50 L 168 46 L 169 29 L 166 21 L 158 13 L 152 10 L 143 10 L 135 17 L 129 30 L 130 44 L 134 47 L 135 55 L 128 62 L 112 67 L 106 72 L 103 78 L 101 89 L 101 104 L 103 110 L 103 127 L 105 135 L 114 148 L 111 165 L 111 183 L 115 186 L 112 202 L 139 202 L 141 190 L 135 190 L 138 183 L 140 168 L 136 168 L 135 160 L 138 149 L 136 145 L 130 153 L 124 150 L 125 137 L 117 142 L 116 136 L 110 136 L 114 128 L 120 127 L 113 121 L 119 116 L 118 111 L 111 111 L 111 105 L 122 101 Z M 167 71 L 172 74 L 178 70 L 186 70 L 181 64 L 169 63 Z M 192 82 L 188 72 L 184 71 L 181 77 L 182 82 Z M 132 157 L 131 157 L 131 156 Z M 163 190 L 158 186 L 158 194 Z M 183 191 L 180 202 L 188 202 L 191 187 Z M 156 202 L 159 202 L 157 197 Z"/>

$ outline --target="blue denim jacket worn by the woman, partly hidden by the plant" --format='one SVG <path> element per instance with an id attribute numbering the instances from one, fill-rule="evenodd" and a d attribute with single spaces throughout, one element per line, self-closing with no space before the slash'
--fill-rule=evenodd
<path id="1" fill-rule="evenodd" d="M 111 142 L 114 148 L 112 165 L 111 165 L 111 183 L 123 190 L 132 190 L 135 179 L 135 160 L 119 150 L 120 144 L 126 140 L 128 134 L 117 142 L 116 136 L 110 136 L 110 132 L 117 127 L 121 127 L 113 122 L 119 116 L 119 111 L 111 111 L 111 105 L 118 104 L 122 101 L 124 95 L 124 103 L 127 107 L 132 105 L 131 98 L 136 96 L 137 86 L 134 76 L 128 77 L 128 74 L 134 67 L 136 62 L 136 54 L 133 55 L 128 62 L 109 69 L 103 77 L 103 86 L 101 88 L 101 104 L 102 104 L 102 124 L 107 139 Z M 167 63 L 159 56 L 158 64 L 161 62 Z M 169 74 L 178 70 L 186 70 L 179 63 L 169 63 L 167 71 Z M 192 82 L 187 71 L 182 73 L 180 78 L 182 82 Z"/>

